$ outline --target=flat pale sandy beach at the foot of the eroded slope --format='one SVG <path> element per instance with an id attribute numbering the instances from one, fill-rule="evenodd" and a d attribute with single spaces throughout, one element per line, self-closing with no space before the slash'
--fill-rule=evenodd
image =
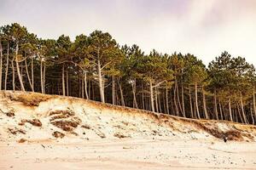
<path id="1" fill-rule="evenodd" d="M 1 143 L 0 169 L 255 169 L 256 144 L 101 139 Z"/>

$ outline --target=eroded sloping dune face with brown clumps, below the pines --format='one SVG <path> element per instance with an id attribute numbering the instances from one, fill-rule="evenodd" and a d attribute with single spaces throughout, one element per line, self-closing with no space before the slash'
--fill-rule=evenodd
<path id="1" fill-rule="evenodd" d="M 198 121 L 37 93 L 2 93 L 0 109 L 1 140 L 177 136 L 183 139 L 254 141 L 256 136 L 256 127 L 239 123 Z"/>

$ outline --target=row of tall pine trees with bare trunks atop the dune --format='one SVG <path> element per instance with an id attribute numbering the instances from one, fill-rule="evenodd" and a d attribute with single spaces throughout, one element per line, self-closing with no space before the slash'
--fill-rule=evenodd
<path id="1" fill-rule="evenodd" d="M 38 38 L 0 28 L 0 90 L 59 94 L 196 119 L 255 123 L 255 69 L 224 51 L 208 66 L 193 54 L 145 54 L 108 32 Z"/>

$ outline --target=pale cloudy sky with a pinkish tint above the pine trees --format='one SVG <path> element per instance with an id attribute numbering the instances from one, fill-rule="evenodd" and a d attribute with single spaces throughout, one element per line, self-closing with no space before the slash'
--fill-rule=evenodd
<path id="1" fill-rule="evenodd" d="M 224 50 L 256 66 L 256 0 L 0 0 L 0 26 L 18 22 L 43 38 L 108 31 L 148 54 Z"/>

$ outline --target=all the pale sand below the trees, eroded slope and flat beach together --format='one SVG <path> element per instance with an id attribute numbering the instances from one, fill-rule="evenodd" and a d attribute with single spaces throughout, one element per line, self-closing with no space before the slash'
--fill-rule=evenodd
<path id="1" fill-rule="evenodd" d="M 0 109 L 0 169 L 256 167 L 254 126 L 32 93 L 2 93 Z"/>

